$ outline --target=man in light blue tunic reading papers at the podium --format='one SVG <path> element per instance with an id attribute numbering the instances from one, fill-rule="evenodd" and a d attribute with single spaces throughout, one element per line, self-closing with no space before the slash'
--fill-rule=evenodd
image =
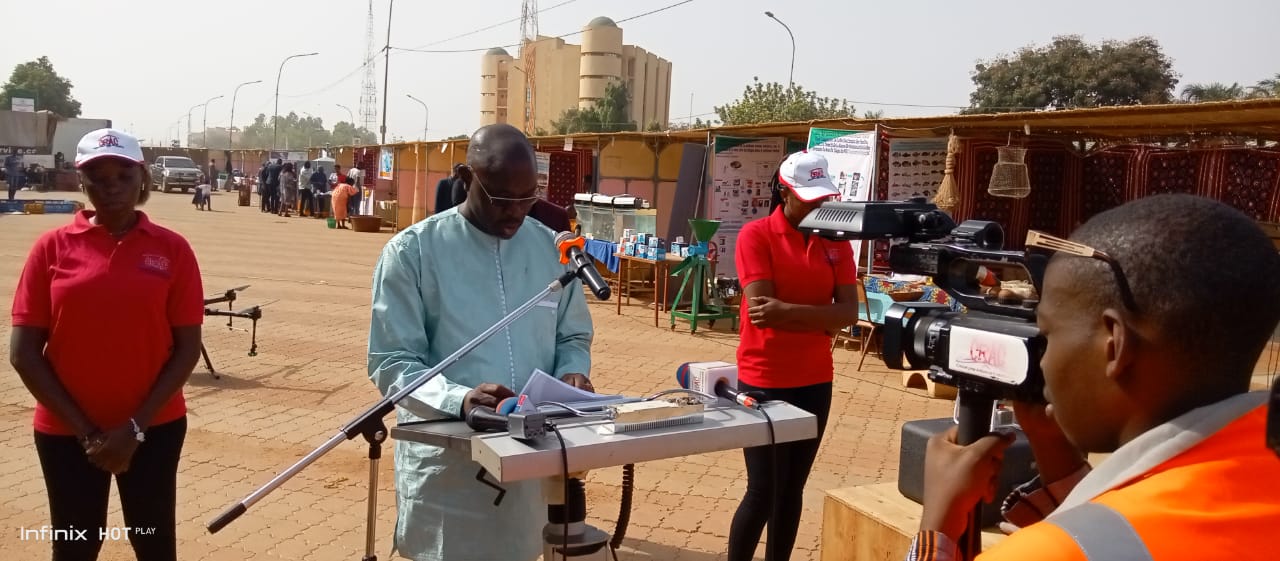
<path id="1" fill-rule="evenodd" d="M 369 377 L 383 394 L 525 304 L 564 273 L 556 233 L 526 219 L 538 200 L 534 149 L 516 128 L 484 127 L 467 147 L 461 206 L 393 237 L 374 270 Z M 463 418 L 518 391 L 534 369 L 591 389 L 591 316 L 580 282 L 539 302 L 399 402 L 399 423 Z M 396 442 L 396 551 L 417 561 L 531 561 L 547 523 L 540 482 L 476 480 L 456 451 Z"/>

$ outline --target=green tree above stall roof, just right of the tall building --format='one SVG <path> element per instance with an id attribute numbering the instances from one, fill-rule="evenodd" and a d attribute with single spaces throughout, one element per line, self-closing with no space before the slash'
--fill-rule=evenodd
<path id="1" fill-rule="evenodd" d="M 751 78 L 742 99 L 716 108 L 724 124 L 786 123 L 814 119 L 840 119 L 855 115 L 847 100 L 822 97 L 799 85 L 785 87 L 778 82 L 762 83 Z"/>

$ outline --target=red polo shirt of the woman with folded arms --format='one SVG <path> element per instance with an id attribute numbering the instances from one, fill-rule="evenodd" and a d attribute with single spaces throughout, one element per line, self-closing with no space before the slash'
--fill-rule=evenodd
<path id="1" fill-rule="evenodd" d="M 755 220 L 737 234 L 735 255 L 739 283 L 772 280 L 773 296 L 787 304 L 832 304 L 836 287 L 858 282 L 858 265 L 849 242 L 805 236 L 787 223 L 782 209 Z M 762 388 L 795 388 L 831 382 L 831 336 L 826 332 L 762 329 L 748 316 L 742 296 L 737 377 Z"/>

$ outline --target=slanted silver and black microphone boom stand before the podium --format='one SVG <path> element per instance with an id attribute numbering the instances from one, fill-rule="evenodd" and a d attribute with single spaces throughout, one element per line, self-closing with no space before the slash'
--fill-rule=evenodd
<path id="1" fill-rule="evenodd" d="M 376 561 L 378 556 L 374 555 L 374 534 L 378 523 L 376 520 L 378 461 L 379 459 L 381 459 L 383 455 L 381 443 L 387 439 L 388 434 L 387 425 L 383 424 L 383 418 L 394 411 L 396 403 L 398 403 L 401 400 L 408 397 L 410 393 L 413 393 L 413 391 L 422 387 L 422 384 L 425 384 L 428 380 L 439 375 L 442 371 L 444 371 L 444 369 L 452 366 L 458 360 L 462 360 L 463 356 L 466 356 L 468 352 L 479 347 L 480 343 L 484 343 L 485 339 L 493 337 L 495 333 L 503 330 L 507 325 L 511 325 L 513 321 L 522 318 L 525 314 L 529 313 L 529 310 L 532 310 L 535 306 L 538 306 L 538 302 L 543 301 L 543 298 L 563 289 L 566 286 L 568 286 L 568 283 L 573 282 L 573 279 L 579 277 L 580 270 L 581 265 L 572 266 L 564 274 L 559 275 L 559 278 L 552 280 L 552 283 L 548 284 L 547 288 L 543 288 L 541 292 L 535 295 L 527 302 L 513 310 L 511 314 L 507 314 L 506 318 L 493 324 L 493 327 L 490 327 L 489 329 L 485 329 L 474 339 L 463 345 L 462 348 L 453 351 L 452 355 L 447 356 L 435 366 L 431 366 L 431 369 L 428 370 L 425 374 L 422 374 L 419 379 L 413 380 L 408 386 L 404 386 L 403 388 L 401 388 L 401 391 L 390 396 L 387 396 L 381 401 L 374 403 L 371 407 L 365 410 L 365 412 L 356 416 L 351 423 L 347 423 L 342 429 L 338 430 L 337 434 L 329 438 L 324 444 L 320 444 L 319 448 L 311 451 L 311 453 L 307 453 L 305 457 L 302 457 L 302 460 L 298 460 L 296 464 L 289 466 L 287 470 L 282 471 L 270 482 L 266 482 L 266 484 L 257 488 L 257 491 L 253 491 L 239 502 L 228 507 L 225 511 L 223 511 L 223 514 L 218 515 L 218 517 L 211 520 L 205 528 L 209 529 L 210 534 L 216 534 L 218 530 L 221 530 L 228 524 L 238 519 L 241 515 L 248 511 L 248 507 L 261 501 L 262 497 L 266 497 L 269 493 L 271 493 L 278 487 L 284 484 L 284 482 L 289 480 L 291 478 L 301 473 L 303 469 L 314 464 L 316 460 L 320 459 L 320 456 L 324 456 L 333 448 L 337 448 L 338 444 L 342 443 L 342 441 L 353 441 L 357 435 L 360 435 L 365 437 L 365 442 L 369 442 L 369 502 L 367 502 L 369 519 L 366 524 L 365 556 L 362 557 L 362 561 Z"/>

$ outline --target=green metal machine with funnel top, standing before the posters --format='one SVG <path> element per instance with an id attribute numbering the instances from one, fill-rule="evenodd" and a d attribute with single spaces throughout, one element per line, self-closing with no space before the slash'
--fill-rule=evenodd
<path id="1" fill-rule="evenodd" d="M 689 227 L 694 231 L 694 245 L 689 246 L 689 256 L 671 270 L 672 277 L 682 277 L 680 291 L 676 292 L 676 300 L 671 304 L 671 329 L 676 329 L 676 318 L 680 318 L 689 320 L 690 333 L 698 332 L 698 321 L 707 321 L 708 327 L 716 327 L 717 319 L 732 320 L 733 330 L 737 330 L 735 306 L 732 304 L 713 305 L 708 296 L 709 284 L 714 277 L 707 255 L 710 240 L 719 229 L 719 220 L 691 218 Z M 689 291 L 689 301 L 684 302 L 686 291 Z"/>

